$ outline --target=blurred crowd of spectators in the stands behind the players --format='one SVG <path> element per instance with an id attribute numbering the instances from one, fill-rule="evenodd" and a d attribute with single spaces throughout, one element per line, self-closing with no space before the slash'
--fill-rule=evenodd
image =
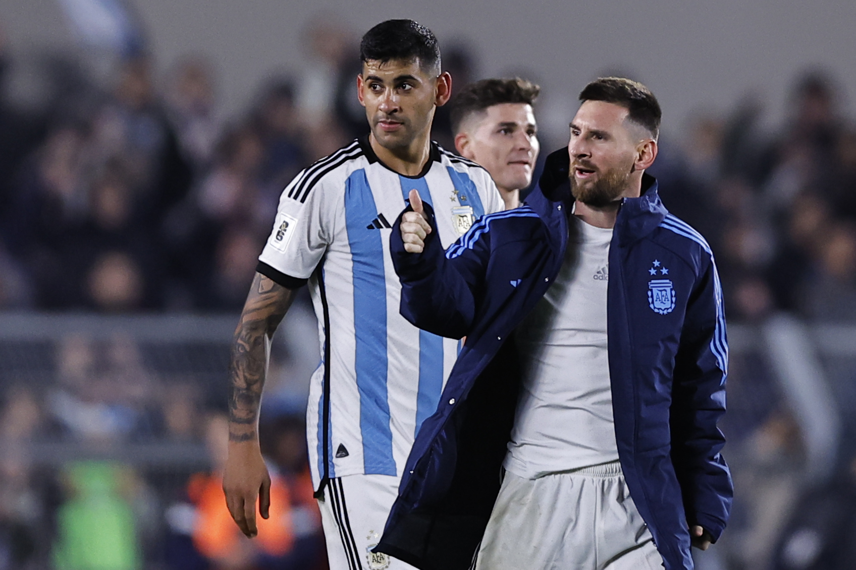
<path id="1" fill-rule="evenodd" d="M 266 81 L 228 120 L 203 58 L 160 77 L 144 53 L 126 56 L 109 88 L 73 60 L 45 60 L 44 105 L 0 102 L 0 309 L 236 319 L 284 185 L 367 131 L 353 92 L 354 34 L 317 25 L 309 38 L 318 64 Z M 467 50 L 447 49 L 443 62 L 455 85 L 476 79 Z M 0 73 L 8 64 L 0 51 Z M 843 115 L 842 95 L 834 76 L 809 71 L 794 78 L 775 132 L 747 100 L 664 135 L 652 169 L 663 202 L 710 241 L 728 319 L 747 330 L 779 311 L 856 324 L 856 117 Z M 445 109 L 435 138 L 453 147 Z M 268 415 L 263 446 L 282 511 L 263 529 L 270 539 L 251 543 L 228 520 L 217 479 L 223 387 L 159 375 L 140 350 L 133 334 L 70 336 L 46 345 L 40 384 L 3 372 L 0 570 L 324 567 L 300 406 Z M 211 361 L 224 378 L 220 354 Z M 854 378 L 837 379 L 844 416 L 856 406 Z M 709 567 L 849 567 L 838 557 L 856 556 L 844 546 L 856 544 L 856 449 L 844 446 L 829 485 L 806 485 L 799 422 L 763 358 L 735 356 L 729 381 L 722 427 L 739 495 Z M 198 456 L 169 474 L 123 461 L 38 467 L 27 459 L 33 442 L 155 443 Z M 811 516 L 823 519 L 814 534 L 788 534 Z"/>

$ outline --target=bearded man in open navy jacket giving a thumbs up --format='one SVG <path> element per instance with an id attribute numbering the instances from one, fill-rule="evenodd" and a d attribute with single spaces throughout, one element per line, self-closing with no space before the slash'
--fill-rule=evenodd
<path id="1" fill-rule="evenodd" d="M 667 570 L 690 569 L 691 544 L 706 549 L 728 520 L 732 483 L 716 427 L 728 347 L 710 247 L 668 213 L 645 174 L 660 120 L 651 92 L 605 78 L 580 99 L 568 149 L 550 155 L 523 207 L 484 216 L 443 251 L 431 207 L 412 191 L 390 238 L 401 314 L 466 337 L 377 546 L 424 570 L 653 567 L 661 557 Z M 586 241 L 603 230 L 599 246 Z M 598 272 L 605 291 L 585 298 L 602 294 L 605 307 L 577 303 L 562 313 L 558 288 L 577 298 L 574 288 L 591 287 L 568 267 L 597 252 L 608 261 Z M 532 326 L 548 340 L 555 332 L 532 315 L 573 328 L 577 313 L 594 314 L 597 325 L 598 310 L 606 338 L 586 347 L 591 359 L 562 366 L 552 353 L 532 356 Z M 609 413 L 603 397 L 589 397 L 603 396 L 604 382 Z M 579 383 L 591 389 L 568 391 Z M 576 396 L 536 405 L 551 393 Z M 582 404 L 600 407 L 586 429 L 575 420 Z M 544 429 L 526 432 L 532 418 Z M 521 475 L 521 465 L 538 464 L 538 450 L 546 467 Z"/>

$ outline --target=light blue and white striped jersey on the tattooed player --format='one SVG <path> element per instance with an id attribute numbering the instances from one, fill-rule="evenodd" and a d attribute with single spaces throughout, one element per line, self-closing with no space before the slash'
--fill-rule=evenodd
<path id="1" fill-rule="evenodd" d="M 316 488 L 325 476 L 400 476 L 455 363 L 457 341 L 399 314 L 389 230 L 413 188 L 433 207 L 444 247 L 482 214 L 503 209 L 474 162 L 431 144 L 423 172 L 407 177 L 380 162 L 364 138 L 288 185 L 259 256 L 259 272 L 281 285 L 308 279 L 318 316 L 324 354 L 307 409 Z"/>

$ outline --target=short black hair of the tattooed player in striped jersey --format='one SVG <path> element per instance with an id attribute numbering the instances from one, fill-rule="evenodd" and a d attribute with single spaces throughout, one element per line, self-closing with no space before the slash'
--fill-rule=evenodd
<path id="1" fill-rule="evenodd" d="M 419 67 L 440 68 L 440 45 L 434 32 L 413 20 L 387 20 L 372 27 L 360 41 L 362 62 L 419 60 Z"/>

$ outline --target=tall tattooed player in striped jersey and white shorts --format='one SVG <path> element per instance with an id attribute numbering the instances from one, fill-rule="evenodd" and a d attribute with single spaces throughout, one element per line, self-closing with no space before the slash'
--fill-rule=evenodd
<path id="1" fill-rule="evenodd" d="M 371 133 L 306 168 L 282 191 L 241 321 L 230 369 L 229 460 L 223 489 L 248 536 L 268 516 L 270 477 L 259 451 L 259 404 L 270 338 L 308 283 L 321 363 L 307 407 L 315 496 L 332 570 L 409 568 L 372 553 L 395 500 L 416 432 L 437 410 L 459 343 L 399 314 L 401 284 L 389 233 L 413 190 L 449 246 L 482 214 L 502 210 L 490 174 L 431 143 L 449 100 L 434 34 L 384 21 L 362 38 L 360 103 Z"/>

